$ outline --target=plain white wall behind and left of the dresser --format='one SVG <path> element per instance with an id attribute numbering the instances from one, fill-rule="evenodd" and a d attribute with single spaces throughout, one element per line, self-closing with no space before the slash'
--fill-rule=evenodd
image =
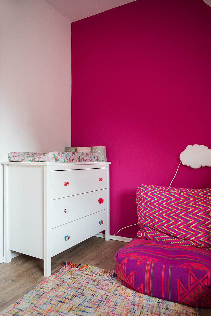
<path id="1" fill-rule="evenodd" d="M 0 32 L 0 162 L 11 151 L 64 150 L 71 142 L 70 22 L 44 0 L 1 0 Z"/>

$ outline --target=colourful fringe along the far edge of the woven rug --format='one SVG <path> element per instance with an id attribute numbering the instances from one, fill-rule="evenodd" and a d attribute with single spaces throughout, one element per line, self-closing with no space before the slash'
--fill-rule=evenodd
<path id="1" fill-rule="evenodd" d="M 117 278 L 116 276 L 116 272 L 115 270 L 104 270 L 104 269 L 101 269 L 101 268 L 98 268 L 98 267 L 94 267 L 93 265 L 88 265 L 88 264 L 74 264 L 73 262 L 62 262 L 61 263 L 64 268 L 75 268 L 75 269 L 78 269 L 78 270 L 83 270 L 83 271 L 87 271 L 87 272 L 92 272 L 92 273 L 95 273 L 95 274 L 98 274 L 98 275 L 104 275 L 104 276 L 110 276 L 110 277 L 113 277 L 113 278 Z"/>

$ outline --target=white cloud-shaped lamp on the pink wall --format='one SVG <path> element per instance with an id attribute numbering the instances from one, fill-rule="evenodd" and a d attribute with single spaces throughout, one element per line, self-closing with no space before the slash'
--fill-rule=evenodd
<path id="1" fill-rule="evenodd" d="M 211 167 L 211 149 L 204 145 L 188 145 L 180 154 L 179 159 L 183 165 L 194 169 Z"/>

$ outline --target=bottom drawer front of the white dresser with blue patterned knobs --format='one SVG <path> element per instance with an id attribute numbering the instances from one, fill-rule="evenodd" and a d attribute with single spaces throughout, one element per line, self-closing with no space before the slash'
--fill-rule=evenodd
<path id="1" fill-rule="evenodd" d="M 107 212 L 103 210 L 51 229 L 51 257 L 106 229 Z M 65 240 L 65 236 L 70 239 Z"/>

